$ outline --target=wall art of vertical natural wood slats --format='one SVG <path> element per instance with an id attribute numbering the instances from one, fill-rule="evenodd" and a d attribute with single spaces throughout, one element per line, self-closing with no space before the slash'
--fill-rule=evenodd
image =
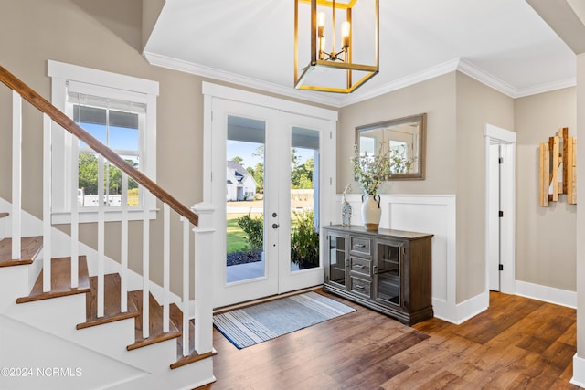
<path id="1" fill-rule="evenodd" d="M 569 205 L 577 204 L 577 140 L 569 137 L 569 128 L 558 129 L 548 142 L 540 143 L 540 206 L 557 202 L 567 194 Z"/>

